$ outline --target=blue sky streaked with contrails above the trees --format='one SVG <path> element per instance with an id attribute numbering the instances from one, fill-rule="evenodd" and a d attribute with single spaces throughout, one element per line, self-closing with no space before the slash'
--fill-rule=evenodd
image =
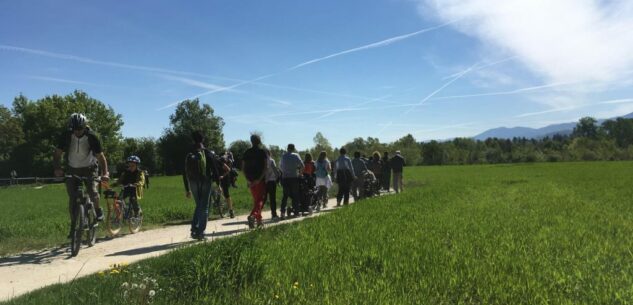
<path id="1" fill-rule="evenodd" d="M 198 96 L 227 144 L 474 136 L 633 112 L 624 0 L 3 1 L 0 102 L 75 89 L 159 137 Z"/>

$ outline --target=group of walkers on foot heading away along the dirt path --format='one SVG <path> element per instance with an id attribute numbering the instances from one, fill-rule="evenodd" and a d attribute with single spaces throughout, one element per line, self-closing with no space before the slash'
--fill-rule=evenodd
<path id="1" fill-rule="evenodd" d="M 249 228 L 263 225 L 262 209 L 267 201 L 270 204 L 273 221 L 311 214 L 313 211 L 310 200 L 305 196 L 314 189 L 317 190 L 314 195 L 320 199 L 317 209 L 326 207 L 328 190 L 334 182 L 338 184 L 337 206 L 349 204 L 350 194 L 354 200 L 359 200 L 365 194 L 364 177 L 367 173 L 375 176 L 376 183 L 383 191 L 390 191 L 392 177 L 396 193 L 402 191 L 405 160 L 399 151 L 396 151 L 392 158 L 389 158 L 387 152 L 382 158 L 375 152 L 371 159 L 355 152 L 352 160 L 347 156 L 346 149 L 341 148 L 338 158 L 334 161 L 328 159 L 325 151 L 320 152 L 317 159 L 313 160 L 310 153 L 306 153 L 302 159 L 295 145 L 291 143 L 277 165 L 271 152 L 262 144 L 260 136 L 253 134 L 250 138 L 251 147 L 244 152 L 241 163 L 235 164 L 229 152 L 223 156 L 216 156 L 204 148 L 204 138 L 200 132 L 194 132 L 193 141 L 194 148 L 185 161 L 183 181 L 187 197 L 193 197 L 196 201 L 191 225 L 191 237 L 194 239 L 204 238 L 213 183 L 222 189 L 230 216 L 234 217 L 233 203 L 228 194 L 232 166 L 239 167 L 244 173 L 253 198 L 253 208 L 247 218 Z M 201 171 L 202 167 L 204 170 Z M 279 214 L 276 198 L 278 185 L 281 185 L 283 194 Z M 291 205 L 288 204 L 289 200 Z"/>

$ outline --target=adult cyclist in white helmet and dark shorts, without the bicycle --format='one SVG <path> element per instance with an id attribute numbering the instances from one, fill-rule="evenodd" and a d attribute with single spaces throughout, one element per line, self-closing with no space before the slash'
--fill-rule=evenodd
<path id="1" fill-rule="evenodd" d="M 66 155 L 66 173 L 81 177 L 93 178 L 85 181 L 85 187 L 90 199 L 94 203 L 97 220 L 103 220 L 103 210 L 99 207 L 99 193 L 97 192 L 97 177 L 101 176 L 101 181 L 108 181 L 108 162 L 101 148 L 101 141 L 95 133 L 88 127 L 88 119 L 82 113 L 73 113 L 68 121 L 66 130 L 59 139 L 57 149 L 53 154 L 53 165 L 55 176 L 64 175 L 61 157 Z M 77 202 L 75 191 L 77 183 L 75 179 L 66 181 L 66 192 L 68 193 L 68 212 L 71 223 L 74 223 L 74 209 Z M 70 236 L 70 235 L 69 235 Z"/>

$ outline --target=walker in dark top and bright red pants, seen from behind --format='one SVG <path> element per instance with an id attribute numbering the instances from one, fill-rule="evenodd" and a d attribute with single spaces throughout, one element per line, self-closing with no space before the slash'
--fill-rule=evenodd
<path id="1" fill-rule="evenodd" d="M 244 152 L 242 171 L 253 196 L 253 210 L 248 215 L 248 227 L 253 229 L 255 222 L 257 222 L 258 227 L 263 225 L 262 208 L 266 200 L 266 179 L 264 178 L 268 166 L 268 156 L 263 149 L 259 135 L 251 135 L 251 144 L 252 147 Z"/>

